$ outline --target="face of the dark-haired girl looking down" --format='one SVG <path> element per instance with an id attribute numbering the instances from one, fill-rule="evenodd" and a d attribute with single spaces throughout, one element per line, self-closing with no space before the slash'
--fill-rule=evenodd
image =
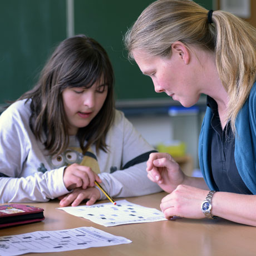
<path id="1" fill-rule="evenodd" d="M 69 135 L 76 135 L 78 129 L 90 124 L 101 110 L 108 91 L 108 86 L 101 81 L 94 83 L 90 88 L 69 87 L 63 90 L 62 100 Z"/>

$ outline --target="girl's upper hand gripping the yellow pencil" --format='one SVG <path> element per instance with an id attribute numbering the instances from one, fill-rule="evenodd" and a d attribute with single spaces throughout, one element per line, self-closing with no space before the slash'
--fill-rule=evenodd
<path id="1" fill-rule="evenodd" d="M 68 190 L 93 187 L 95 186 L 95 180 L 99 183 L 102 182 L 100 177 L 87 166 L 72 164 L 64 170 L 63 182 Z"/>

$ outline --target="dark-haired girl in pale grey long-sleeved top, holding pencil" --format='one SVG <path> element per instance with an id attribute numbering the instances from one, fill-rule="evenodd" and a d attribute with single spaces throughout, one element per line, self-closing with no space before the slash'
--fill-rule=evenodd
<path id="1" fill-rule="evenodd" d="M 0 201 L 61 206 L 160 191 L 147 181 L 152 147 L 114 109 L 105 50 L 84 35 L 61 42 L 31 91 L 0 116 Z M 70 191 L 72 190 L 72 191 Z"/>

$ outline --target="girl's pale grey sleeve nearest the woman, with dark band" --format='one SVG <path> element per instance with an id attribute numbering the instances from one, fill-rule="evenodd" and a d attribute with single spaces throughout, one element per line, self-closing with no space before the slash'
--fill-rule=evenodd
<path id="1" fill-rule="evenodd" d="M 127 197 L 162 190 L 147 178 L 146 161 L 154 148 L 142 138 L 122 112 L 116 111 L 115 123 L 107 135 L 106 143 L 109 152 L 106 156 L 101 153 L 97 157 L 101 169 L 101 185 L 107 193 L 112 197 Z M 107 169 L 113 165 L 116 171 L 109 173 Z M 105 199 L 105 196 L 101 195 L 101 199 Z"/>

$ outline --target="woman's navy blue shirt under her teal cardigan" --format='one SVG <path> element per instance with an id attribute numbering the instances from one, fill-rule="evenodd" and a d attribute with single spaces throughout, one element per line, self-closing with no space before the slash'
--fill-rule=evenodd
<path id="1" fill-rule="evenodd" d="M 218 105 L 213 98 L 207 97 L 207 105 L 213 112 L 211 118 L 213 136 L 211 138 L 210 166 L 214 183 L 219 191 L 252 195 L 245 186 L 235 164 L 235 138 L 231 126 L 228 122 L 222 130 Z"/>

